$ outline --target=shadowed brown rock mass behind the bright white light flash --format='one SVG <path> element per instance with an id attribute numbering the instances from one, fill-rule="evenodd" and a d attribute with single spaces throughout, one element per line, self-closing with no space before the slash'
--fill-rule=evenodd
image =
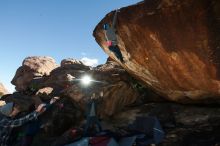
<path id="1" fill-rule="evenodd" d="M 80 82 L 84 75 L 89 75 L 94 80 L 88 87 Z M 95 94 L 101 101 L 98 113 L 105 117 L 121 111 L 136 101 L 139 93 L 130 81 L 129 74 L 114 61 L 108 61 L 93 69 L 77 61 L 70 64 L 63 64 L 62 61 L 60 67 L 45 77 L 43 86 L 53 88 L 51 94 L 71 98 L 83 111 L 88 100 Z M 100 95 L 102 93 L 103 96 Z"/>

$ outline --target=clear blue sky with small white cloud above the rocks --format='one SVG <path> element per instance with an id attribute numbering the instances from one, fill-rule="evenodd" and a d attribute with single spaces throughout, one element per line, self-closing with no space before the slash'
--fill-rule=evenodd
<path id="1" fill-rule="evenodd" d="M 27 56 L 102 64 L 107 55 L 92 32 L 110 11 L 141 0 L 0 0 L 0 82 L 11 85 Z M 91 63 L 91 62 L 90 62 Z"/>

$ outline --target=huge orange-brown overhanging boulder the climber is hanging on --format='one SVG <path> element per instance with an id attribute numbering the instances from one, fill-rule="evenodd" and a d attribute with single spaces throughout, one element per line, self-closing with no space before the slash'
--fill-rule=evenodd
<path id="1" fill-rule="evenodd" d="M 116 34 L 125 63 L 106 46 L 103 25 L 113 15 L 93 35 L 130 74 L 172 101 L 220 99 L 220 1 L 146 0 L 121 8 Z"/>

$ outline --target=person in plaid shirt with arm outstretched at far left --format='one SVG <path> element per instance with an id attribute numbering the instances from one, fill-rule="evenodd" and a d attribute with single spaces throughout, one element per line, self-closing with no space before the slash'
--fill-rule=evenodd
<path id="1" fill-rule="evenodd" d="M 13 128 L 20 127 L 29 121 L 37 119 L 45 110 L 45 104 L 40 104 L 36 110 L 30 114 L 19 119 L 14 119 L 19 113 L 19 110 L 13 102 L 9 102 L 0 107 L 0 146 L 10 146 L 9 138 Z"/>

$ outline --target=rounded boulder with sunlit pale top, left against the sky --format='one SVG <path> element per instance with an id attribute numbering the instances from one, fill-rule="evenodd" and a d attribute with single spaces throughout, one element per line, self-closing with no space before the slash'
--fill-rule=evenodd
<path id="1" fill-rule="evenodd" d="M 27 89 L 32 79 L 48 76 L 57 66 L 55 60 L 51 57 L 27 57 L 24 59 L 22 66 L 17 69 L 11 83 L 15 85 L 17 91 L 24 91 Z"/>

